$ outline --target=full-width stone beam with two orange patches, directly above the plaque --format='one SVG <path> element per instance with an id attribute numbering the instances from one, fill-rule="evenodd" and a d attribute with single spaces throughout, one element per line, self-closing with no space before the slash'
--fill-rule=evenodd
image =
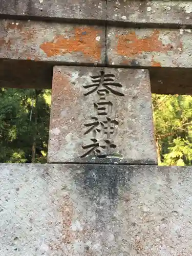
<path id="1" fill-rule="evenodd" d="M 128 29 L 24 20 L 0 23 L 0 58 L 63 65 L 192 67 L 191 29 Z M 105 56 L 106 54 L 106 56 Z M 56 64 L 57 63 L 57 64 Z"/>

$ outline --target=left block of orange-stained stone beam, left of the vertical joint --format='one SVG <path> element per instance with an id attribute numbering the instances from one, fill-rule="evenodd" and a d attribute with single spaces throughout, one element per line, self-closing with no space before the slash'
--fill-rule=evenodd
<path id="1" fill-rule="evenodd" d="M 0 58 L 104 63 L 105 28 L 2 20 Z"/>

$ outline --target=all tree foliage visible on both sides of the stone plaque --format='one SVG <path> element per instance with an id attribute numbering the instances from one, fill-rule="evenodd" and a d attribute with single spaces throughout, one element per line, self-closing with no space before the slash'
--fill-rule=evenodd
<path id="1" fill-rule="evenodd" d="M 152 97 L 160 165 L 192 165 L 192 97 Z M 0 162 L 45 163 L 50 90 L 0 89 Z"/>

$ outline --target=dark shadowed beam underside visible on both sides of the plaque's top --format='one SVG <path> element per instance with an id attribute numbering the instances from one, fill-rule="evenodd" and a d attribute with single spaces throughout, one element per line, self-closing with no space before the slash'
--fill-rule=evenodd
<path id="1" fill-rule="evenodd" d="M 51 89 L 52 70 L 50 62 L 0 59 L 0 87 Z M 149 71 L 152 93 L 192 95 L 191 69 L 151 67 Z"/>

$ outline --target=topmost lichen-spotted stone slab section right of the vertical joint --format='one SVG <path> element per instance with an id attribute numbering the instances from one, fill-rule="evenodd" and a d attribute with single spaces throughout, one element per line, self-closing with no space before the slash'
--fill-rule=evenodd
<path id="1" fill-rule="evenodd" d="M 148 26 L 191 25 L 192 1 L 109 0 L 108 20 Z"/>

